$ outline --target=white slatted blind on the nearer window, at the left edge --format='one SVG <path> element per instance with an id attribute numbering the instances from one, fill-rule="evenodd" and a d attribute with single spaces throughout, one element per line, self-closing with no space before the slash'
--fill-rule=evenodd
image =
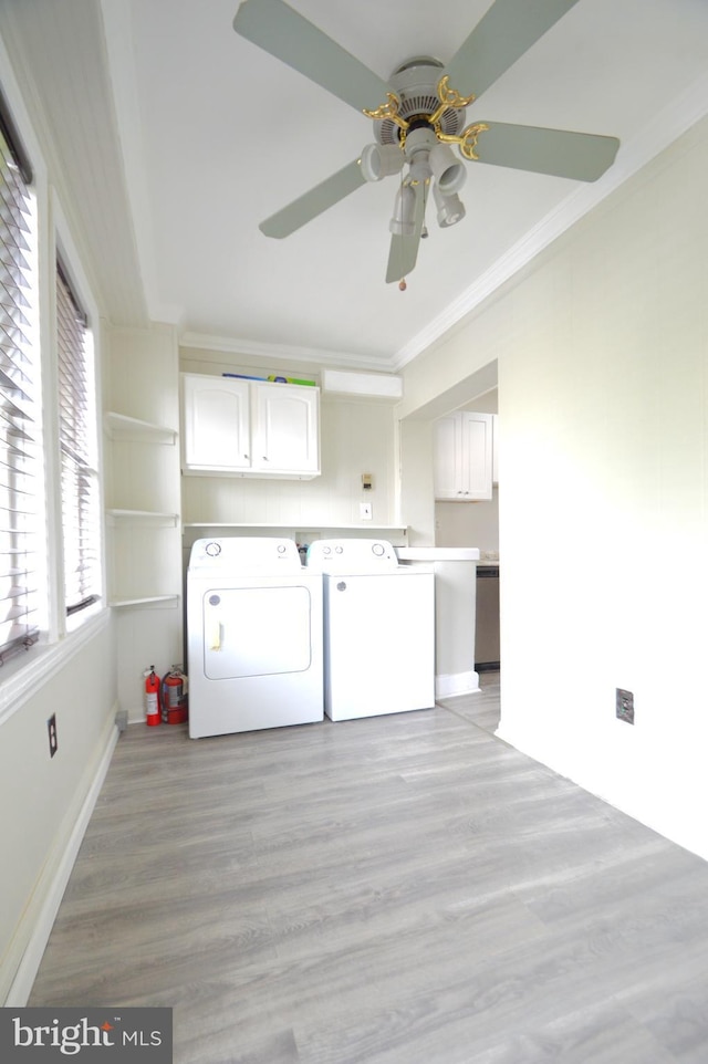
<path id="1" fill-rule="evenodd" d="M 39 638 L 38 281 L 31 171 L 0 112 L 0 663 Z"/>

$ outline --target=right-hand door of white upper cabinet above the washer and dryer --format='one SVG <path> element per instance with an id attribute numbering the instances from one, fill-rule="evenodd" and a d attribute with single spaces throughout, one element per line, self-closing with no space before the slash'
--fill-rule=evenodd
<path id="1" fill-rule="evenodd" d="M 263 472 L 319 472 L 319 389 L 254 384 L 252 396 L 252 467 Z"/>

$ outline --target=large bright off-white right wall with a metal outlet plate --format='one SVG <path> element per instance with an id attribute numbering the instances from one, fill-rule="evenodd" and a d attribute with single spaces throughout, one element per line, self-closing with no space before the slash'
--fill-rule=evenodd
<path id="1" fill-rule="evenodd" d="M 465 350 L 498 359 L 500 734 L 708 857 L 706 173 L 702 122 L 436 365 L 450 387 Z"/>

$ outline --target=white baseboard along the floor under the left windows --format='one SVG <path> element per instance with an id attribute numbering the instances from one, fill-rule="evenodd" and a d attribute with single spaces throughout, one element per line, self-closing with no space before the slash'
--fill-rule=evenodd
<path id="1" fill-rule="evenodd" d="M 40 877 L 34 896 L 42 898 L 39 911 L 34 914 L 32 906 L 25 910 L 24 919 L 33 920 L 34 925 L 30 933 L 28 945 L 22 953 L 12 985 L 8 992 L 4 1005 L 23 1008 L 32 992 L 32 985 L 37 978 L 46 943 L 56 919 L 56 914 L 61 900 L 69 883 L 79 848 L 83 841 L 91 814 L 101 793 L 103 781 L 105 780 L 115 744 L 118 741 L 118 729 L 112 724 L 107 731 L 106 742 L 96 768 L 88 792 L 79 810 L 79 815 L 71 830 L 66 844 L 56 862 L 48 862 L 45 865 L 46 874 Z"/>

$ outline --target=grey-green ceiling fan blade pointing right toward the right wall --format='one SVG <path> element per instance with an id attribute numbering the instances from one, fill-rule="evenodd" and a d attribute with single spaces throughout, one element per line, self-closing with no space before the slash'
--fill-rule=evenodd
<path id="1" fill-rule="evenodd" d="M 538 126 L 485 123 L 477 144 L 480 163 L 511 166 L 517 170 L 596 181 L 612 166 L 620 140 L 592 133 L 569 133 Z"/>

